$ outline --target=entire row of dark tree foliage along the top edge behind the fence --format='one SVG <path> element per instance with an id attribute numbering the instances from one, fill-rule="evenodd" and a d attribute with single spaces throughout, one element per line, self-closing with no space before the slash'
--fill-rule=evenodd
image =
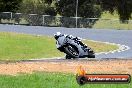
<path id="1" fill-rule="evenodd" d="M 76 16 L 77 0 L 0 0 L 0 12 L 21 12 L 26 14 L 52 15 L 57 13 L 65 17 Z M 78 0 L 78 17 L 100 18 L 102 12 L 117 11 L 122 23 L 132 18 L 132 0 Z M 40 18 L 41 19 L 41 18 Z M 69 21 L 69 22 L 68 22 Z M 74 26 L 75 19 L 61 20 L 63 26 Z M 88 21 L 92 27 L 97 20 Z M 78 27 L 80 27 L 78 25 Z"/>

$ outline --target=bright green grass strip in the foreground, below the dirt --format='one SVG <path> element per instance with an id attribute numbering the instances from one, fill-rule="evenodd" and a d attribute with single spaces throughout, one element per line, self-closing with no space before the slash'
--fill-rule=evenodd
<path id="1" fill-rule="evenodd" d="M 80 86 L 75 75 L 35 72 L 17 76 L 0 75 L 1 88 L 132 88 L 130 84 L 86 84 Z"/>

